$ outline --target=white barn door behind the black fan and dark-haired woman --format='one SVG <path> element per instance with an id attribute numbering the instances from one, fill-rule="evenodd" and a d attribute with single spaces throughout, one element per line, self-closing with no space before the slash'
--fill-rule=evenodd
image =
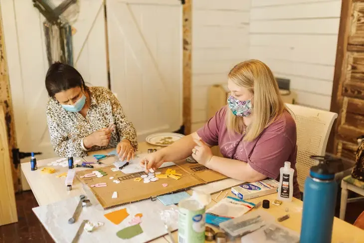
<path id="1" fill-rule="evenodd" d="M 58 5 L 62 0 L 52 2 Z M 38 159 L 54 157 L 45 115 L 48 62 L 44 17 L 32 1 L 0 0 L 0 4 L 17 146 L 23 152 L 42 152 Z M 79 7 L 72 24 L 76 30 L 74 66 L 89 84 L 107 87 L 104 1 L 80 0 Z"/>

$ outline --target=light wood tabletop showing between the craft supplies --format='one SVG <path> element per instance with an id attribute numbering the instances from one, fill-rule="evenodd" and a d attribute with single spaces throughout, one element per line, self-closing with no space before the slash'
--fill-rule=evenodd
<path id="1" fill-rule="evenodd" d="M 148 150 L 148 148 L 152 148 L 152 145 L 148 145 L 146 143 L 140 143 L 140 151 L 145 152 Z M 110 149 L 111 151 L 112 149 Z M 102 153 L 105 154 L 108 151 L 103 151 Z M 101 153 L 101 152 L 98 152 Z M 95 153 L 93 153 L 95 154 Z M 87 157 L 86 159 L 92 159 L 92 156 Z M 50 163 L 51 161 L 54 161 L 55 159 L 49 159 L 49 160 L 42 160 L 38 161 L 38 167 L 43 167 L 46 164 Z M 105 164 L 112 163 L 113 159 L 105 159 L 102 162 Z M 34 173 L 30 170 L 30 163 L 24 163 L 21 165 L 21 169 L 30 185 L 31 190 L 33 191 L 33 194 L 40 206 L 42 205 L 48 205 L 52 203 L 56 203 L 59 201 L 63 201 L 65 199 L 69 199 L 72 197 L 79 196 L 80 194 L 85 194 L 84 189 L 82 188 L 82 184 L 74 180 L 73 183 L 73 190 L 72 191 L 66 191 L 64 186 L 64 179 L 61 180 L 60 178 L 56 178 L 56 174 L 50 174 L 50 175 L 40 175 L 40 173 Z M 85 170 L 87 168 L 75 168 L 76 170 Z M 39 169 L 38 169 L 39 170 Z M 57 167 L 56 173 L 60 174 L 63 172 L 66 172 L 68 170 L 68 167 L 62 168 Z M 228 179 L 232 180 L 232 179 Z M 231 182 L 230 182 L 231 184 Z M 227 188 L 227 187 L 226 187 Z M 209 189 L 210 192 L 213 192 L 214 189 Z M 56 193 L 55 193 L 56 192 Z M 191 194 L 191 190 L 188 190 L 187 193 Z M 215 191 L 216 192 L 216 191 Z M 217 193 L 212 194 L 212 202 L 208 205 L 207 208 L 212 207 L 214 204 L 218 203 L 225 195 L 225 192 L 227 192 L 226 196 L 234 196 L 231 193 L 230 189 L 224 190 L 219 197 L 216 198 L 218 195 Z M 277 194 L 272 194 L 252 200 L 248 200 L 253 203 L 258 203 L 259 201 L 262 201 L 263 199 L 270 200 L 271 202 L 274 201 L 277 197 Z M 285 212 L 285 209 L 288 208 L 291 218 L 280 223 L 283 226 L 294 230 L 296 232 L 300 232 L 301 229 L 301 217 L 302 217 L 302 201 L 293 199 L 292 202 L 286 203 L 283 202 L 280 206 L 271 205 L 267 211 L 273 215 L 274 217 L 278 218 L 281 217 L 287 212 Z M 264 209 L 265 210 L 265 209 Z M 218 232 L 218 229 L 215 227 L 212 227 L 216 232 Z M 173 237 L 175 241 L 177 242 L 177 236 L 178 233 L 174 232 Z M 364 231 L 350 225 L 338 218 L 335 218 L 334 220 L 334 230 L 333 230 L 333 243 L 360 243 L 363 242 L 364 239 Z M 153 243 L 168 243 L 171 242 L 168 235 L 165 237 L 161 237 L 157 240 L 154 240 Z M 236 240 L 236 242 L 240 242 L 240 240 Z M 206 242 L 207 243 L 207 242 Z"/>

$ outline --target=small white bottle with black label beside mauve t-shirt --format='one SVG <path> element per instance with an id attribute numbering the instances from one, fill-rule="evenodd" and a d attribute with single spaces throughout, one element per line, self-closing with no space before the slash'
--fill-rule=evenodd
<path id="1" fill-rule="evenodd" d="M 292 201 L 293 196 L 293 174 L 295 170 L 291 168 L 291 162 L 284 162 L 284 167 L 279 169 L 281 177 L 278 186 L 278 200 Z"/>

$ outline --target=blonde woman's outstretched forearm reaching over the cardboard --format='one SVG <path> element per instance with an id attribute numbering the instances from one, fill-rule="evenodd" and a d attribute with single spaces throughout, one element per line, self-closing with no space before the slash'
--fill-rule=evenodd
<path id="1" fill-rule="evenodd" d="M 162 153 L 164 161 L 177 161 L 190 156 L 192 154 L 192 148 L 195 145 L 192 135 L 190 134 L 158 152 Z"/>

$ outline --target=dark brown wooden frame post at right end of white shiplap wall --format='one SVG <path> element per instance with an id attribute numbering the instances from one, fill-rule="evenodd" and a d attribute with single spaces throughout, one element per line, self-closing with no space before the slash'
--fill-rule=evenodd
<path id="1" fill-rule="evenodd" d="M 333 91 L 331 96 L 331 107 L 330 111 L 338 113 L 338 119 L 334 122 L 333 128 L 329 136 L 327 152 L 337 154 L 337 143 L 335 141 L 335 136 L 338 130 L 339 124 L 341 124 L 341 114 L 340 110 L 343 106 L 343 80 L 346 75 L 347 68 L 347 47 L 348 47 L 348 37 L 351 26 L 351 12 L 352 12 L 353 0 L 342 0 L 341 4 L 341 15 L 340 15 L 340 25 L 338 34 L 338 45 L 336 49 L 336 60 L 335 60 L 335 71 L 333 80 Z"/>

